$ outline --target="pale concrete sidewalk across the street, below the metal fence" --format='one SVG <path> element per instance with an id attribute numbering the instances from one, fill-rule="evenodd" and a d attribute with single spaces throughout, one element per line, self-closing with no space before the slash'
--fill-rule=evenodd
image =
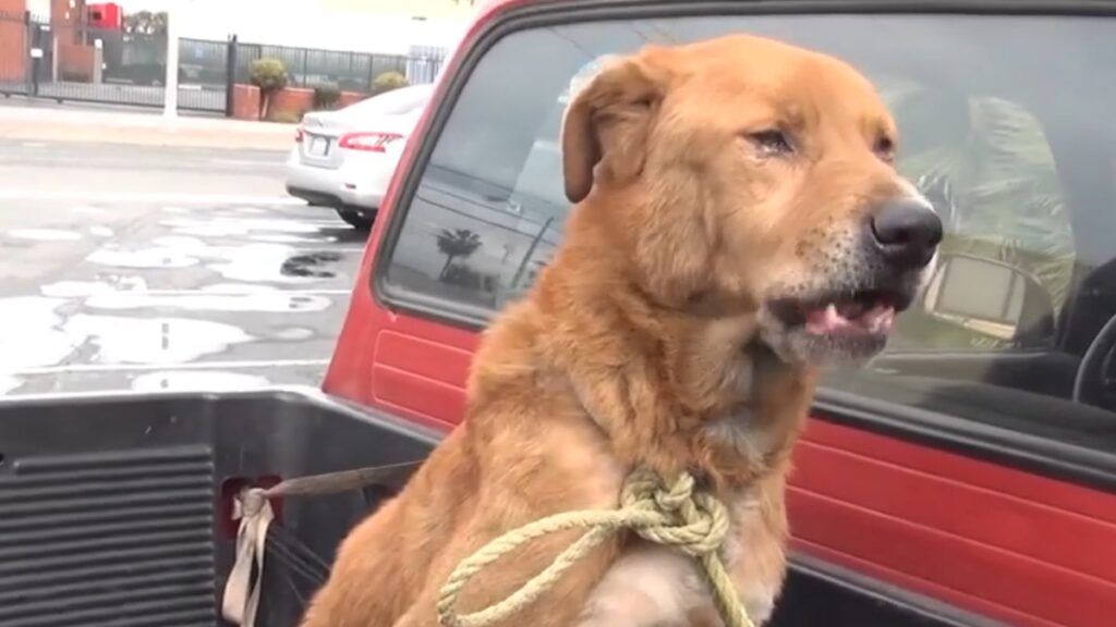
<path id="1" fill-rule="evenodd" d="M 157 110 L 122 113 L 0 106 L 0 141 L 286 151 L 294 144 L 295 128 L 294 124 L 215 117 L 169 119 Z"/>

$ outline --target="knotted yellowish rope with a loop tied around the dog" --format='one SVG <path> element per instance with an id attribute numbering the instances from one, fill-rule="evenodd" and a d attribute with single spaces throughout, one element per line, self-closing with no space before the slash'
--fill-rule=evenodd
<path id="1" fill-rule="evenodd" d="M 694 480 L 689 474 L 665 485 L 653 471 L 641 469 L 625 481 L 618 510 L 559 513 L 504 533 L 459 563 L 446 579 L 437 599 L 439 621 L 444 627 L 489 627 L 500 623 L 535 602 L 612 533 L 628 529 L 696 559 L 725 627 L 753 627 L 718 554 L 729 531 L 728 512 L 712 495 L 694 493 L 693 489 Z M 587 531 L 511 596 L 480 611 L 458 614 L 461 589 L 487 566 L 531 540 L 571 529 Z"/>

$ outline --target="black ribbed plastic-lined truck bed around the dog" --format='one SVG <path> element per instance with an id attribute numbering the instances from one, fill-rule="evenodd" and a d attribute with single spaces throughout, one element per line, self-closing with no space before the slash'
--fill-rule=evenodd
<path id="1" fill-rule="evenodd" d="M 246 482 L 420 460 L 440 434 L 314 389 L 0 401 L 0 626 L 223 625 Z M 258 627 L 297 625 L 344 534 L 392 492 L 277 503 Z M 773 625 L 978 625 L 796 557 Z"/>

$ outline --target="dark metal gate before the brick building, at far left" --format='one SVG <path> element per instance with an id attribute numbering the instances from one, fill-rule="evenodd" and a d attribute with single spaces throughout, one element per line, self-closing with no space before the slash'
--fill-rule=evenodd
<path id="1" fill-rule="evenodd" d="M 215 47 L 213 46 L 215 44 Z M 0 94 L 162 107 L 165 32 L 125 32 L 0 13 Z M 225 113 L 227 46 L 179 42 L 179 108 Z M 198 71 L 198 65 L 204 71 Z M 214 74 L 212 68 L 220 70 Z"/>

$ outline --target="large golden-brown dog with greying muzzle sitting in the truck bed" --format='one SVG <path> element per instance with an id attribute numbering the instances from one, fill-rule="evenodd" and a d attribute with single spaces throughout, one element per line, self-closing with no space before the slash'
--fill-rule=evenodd
<path id="1" fill-rule="evenodd" d="M 727 503 L 724 560 L 764 621 L 816 368 L 881 350 L 942 237 L 895 143 L 864 77 L 776 41 L 650 47 L 602 71 L 562 129 L 564 247 L 485 334 L 464 424 L 345 540 L 304 626 L 432 627 L 460 560 L 549 514 L 617 507 L 637 464 L 690 471 Z M 576 536 L 492 565 L 462 609 Z M 720 619 L 689 558 L 617 536 L 507 625 Z"/>

